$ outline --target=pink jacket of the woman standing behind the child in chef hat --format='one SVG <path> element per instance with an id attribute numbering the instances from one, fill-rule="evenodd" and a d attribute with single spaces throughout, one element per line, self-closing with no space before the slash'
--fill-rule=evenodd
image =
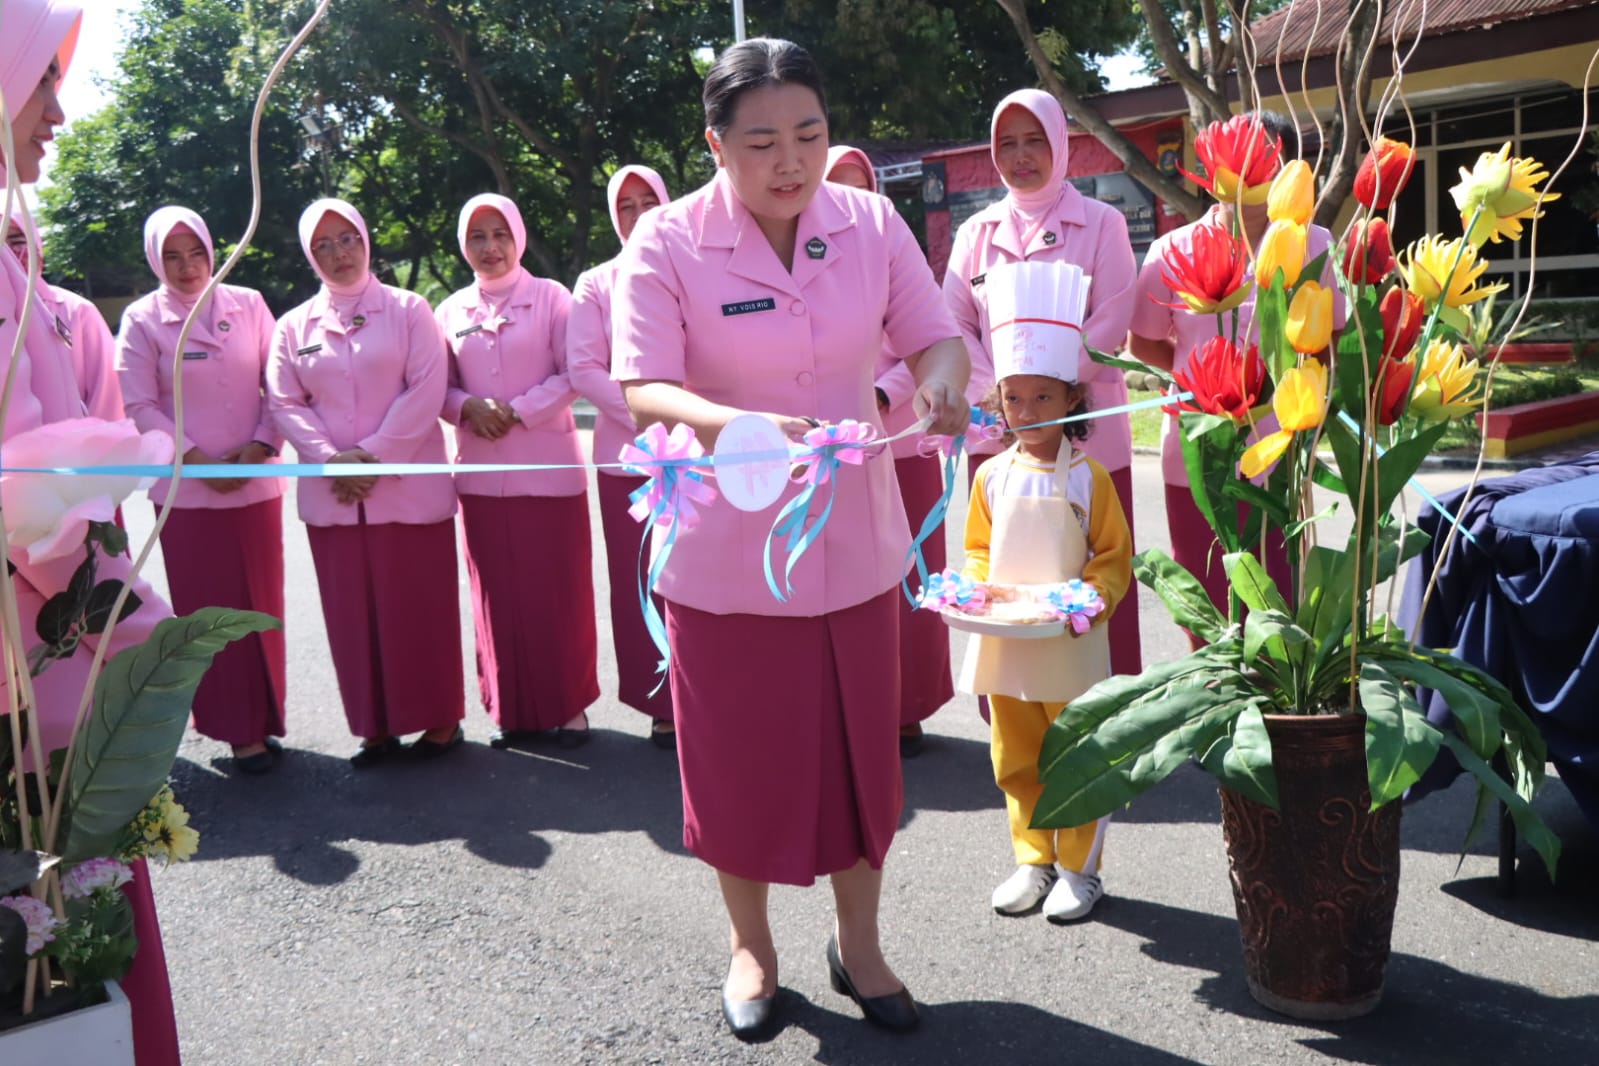
<path id="1" fill-rule="evenodd" d="M 1110 205 L 1089 200 L 1073 185 L 1060 187 L 1049 219 L 1025 249 L 1017 245 L 1015 229 L 1007 224 L 1004 201 L 974 214 L 955 235 L 950 265 L 943 275 L 943 296 L 972 356 L 972 377 L 966 390 L 972 403 L 987 396 L 995 384 L 983 275 L 998 264 L 1063 261 L 1083 267 L 1094 278 L 1083 323 L 1084 345 L 1115 352 L 1127 337 L 1138 280 L 1138 264 L 1127 240 L 1127 221 Z M 1086 350 L 1078 366 L 1081 380 L 1087 385 L 1091 411 L 1127 403 L 1127 382 L 1121 371 L 1094 363 Z M 1003 449 L 1004 444 L 993 441 L 972 451 L 995 454 Z M 1130 424 L 1124 417 L 1097 420 L 1084 451 L 1107 470 L 1129 467 Z"/>

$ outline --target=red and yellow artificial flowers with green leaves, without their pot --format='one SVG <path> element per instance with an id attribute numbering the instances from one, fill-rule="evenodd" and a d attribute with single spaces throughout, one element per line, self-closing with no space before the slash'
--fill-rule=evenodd
<path id="1" fill-rule="evenodd" d="M 1394 510 L 1401 491 L 1447 424 L 1481 403 L 1477 363 L 1461 342 L 1479 332 L 1474 305 L 1503 288 L 1481 283 L 1484 243 L 1514 240 L 1538 217 L 1548 174 L 1509 145 L 1484 153 L 1452 190 L 1463 235 L 1423 237 L 1396 256 L 1386 214 L 1414 160 L 1409 145 L 1378 139 L 1354 182 L 1361 206 L 1327 253 L 1350 308 L 1334 336 L 1326 257 L 1306 262 L 1311 169 L 1282 165 L 1281 145 L 1247 115 L 1212 125 L 1194 147 L 1201 185 L 1223 203 L 1265 203 L 1270 216 L 1257 249 L 1236 224 L 1207 224 L 1191 254 L 1167 262 L 1182 304 L 1218 323 L 1172 384 L 1191 395 L 1180 404 L 1183 459 L 1225 553 L 1230 603 L 1218 611 L 1161 551 L 1135 558 L 1138 580 L 1207 646 L 1110 678 L 1065 708 L 1041 754 L 1036 825 L 1111 813 L 1190 759 L 1276 807 L 1268 716 L 1356 716 L 1374 810 L 1447 748 L 1477 782 L 1468 842 L 1497 798 L 1553 876 L 1559 842 L 1529 804 L 1545 766 L 1537 727 L 1498 679 L 1409 641 L 1378 596 L 1426 543 Z M 1239 328 L 1250 289 L 1258 344 Z M 1276 427 L 1260 425 L 1268 412 Z M 1313 487 L 1337 503 L 1318 510 Z M 1353 518 L 1348 535 L 1326 532 L 1340 507 Z M 1268 534 L 1286 543 L 1286 588 L 1263 566 Z M 1455 730 L 1428 721 L 1417 686 L 1447 698 Z"/>

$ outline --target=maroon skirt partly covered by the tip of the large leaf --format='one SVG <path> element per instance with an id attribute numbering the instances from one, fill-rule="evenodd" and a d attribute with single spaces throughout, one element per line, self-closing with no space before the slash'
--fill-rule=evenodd
<path id="1" fill-rule="evenodd" d="M 283 497 L 249 507 L 174 507 L 161 527 L 173 614 L 200 607 L 283 619 Z M 233 641 L 195 692 L 195 729 L 245 746 L 283 735 L 288 692 L 283 630 Z"/>

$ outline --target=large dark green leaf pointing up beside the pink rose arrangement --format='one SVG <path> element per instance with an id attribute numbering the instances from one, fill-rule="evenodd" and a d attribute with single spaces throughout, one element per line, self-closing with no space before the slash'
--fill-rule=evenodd
<path id="1" fill-rule="evenodd" d="M 205 607 L 165 619 L 150 638 L 112 658 L 72 754 L 61 853 L 106 855 L 171 774 L 200 678 L 229 642 L 281 623 L 254 611 Z"/>

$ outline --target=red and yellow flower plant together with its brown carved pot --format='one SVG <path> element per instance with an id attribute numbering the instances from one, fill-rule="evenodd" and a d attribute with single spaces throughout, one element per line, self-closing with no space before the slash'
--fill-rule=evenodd
<path id="1" fill-rule="evenodd" d="M 1263 131 L 1238 139 L 1212 126 L 1199 141 L 1201 158 L 1222 145 L 1266 149 Z M 1303 264 L 1314 201 L 1303 163 L 1257 192 L 1271 217 L 1258 249 L 1226 235 L 1220 259 L 1249 256 L 1252 272 L 1196 264 L 1175 280 L 1185 304 L 1209 308 L 1236 307 L 1239 289 L 1255 286 L 1258 345 L 1222 312 L 1220 336 L 1174 379 L 1190 395 L 1183 455 L 1225 551 L 1230 603 L 1212 604 L 1164 553 L 1137 556 L 1138 580 L 1207 644 L 1091 689 L 1062 711 L 1039 758 L 1035 825 L 1046 828 L 1107 815 L 1188 761 L 1220 780 L 1249 988 L 1297 1016 L 1375 1007 L 1398 893 L 1393 801 L 1441 748 L 1477 780 L 1471 831 L 1497 798 L 1551 876 L 1559 853 L 1529 805 L 1545 764 L 1537 727 L 1495 678 L 1410 642 L 1377 596 L 1426 542 L 1394 500 L 1447 424 L 1481 400 L 1461 340 L 1471 305 L 1492 291 L 1479 284 L 1482 243 L 1519 235 L 1537 211 L 1546 176 L 1508 149 L 1484 153 L 1453 189 L 1466 237 L 1425 237 L 1396 262 L 1382 213 L 1409 176 L 1410 149 L 1374 145 L 1356 179 L 1361 209 L 1332 253 L 1350 308 L 1335 344 L 1324 259 Z M 1215 161 L 1250 169 L 1247 158 Z M 1257 432 L 1268 409 L 1278 427 Z M 1350 510 L 1348 535 L 1327 532 L 1335 507 L 1318 510 L 1313 487 Z M 1270 534 L 1286 542 L 1287 588 L 1263 566 Z M 1414 686 L 1444 694 L 1455 732 L 1426 719 Z"/>

